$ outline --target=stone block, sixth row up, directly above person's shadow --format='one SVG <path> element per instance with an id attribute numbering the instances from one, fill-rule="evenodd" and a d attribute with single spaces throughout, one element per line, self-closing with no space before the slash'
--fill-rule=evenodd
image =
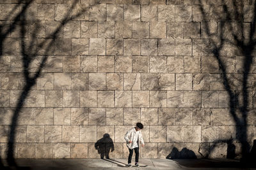
<path id="1" fill-rule="evenodd" d="M 115 72 L 115 56 L 99 56 L 98 72 L 108 73 Z"/>

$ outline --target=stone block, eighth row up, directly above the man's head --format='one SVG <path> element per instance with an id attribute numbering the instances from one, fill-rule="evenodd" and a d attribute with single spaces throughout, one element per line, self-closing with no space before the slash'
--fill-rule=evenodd
<path id="1" fill-rule="evenodd" d="M 149 38 L 149 22 L 132 22 L 132 38 Z"/>

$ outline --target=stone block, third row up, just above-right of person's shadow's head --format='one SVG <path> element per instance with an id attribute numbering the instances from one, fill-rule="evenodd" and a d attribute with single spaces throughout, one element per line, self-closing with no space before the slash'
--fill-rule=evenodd
<path id="1" fill-rule="evenodd" d="M 106 124 L 122 125 L 123 124 L 123 108 L 107 108 Z"/>

